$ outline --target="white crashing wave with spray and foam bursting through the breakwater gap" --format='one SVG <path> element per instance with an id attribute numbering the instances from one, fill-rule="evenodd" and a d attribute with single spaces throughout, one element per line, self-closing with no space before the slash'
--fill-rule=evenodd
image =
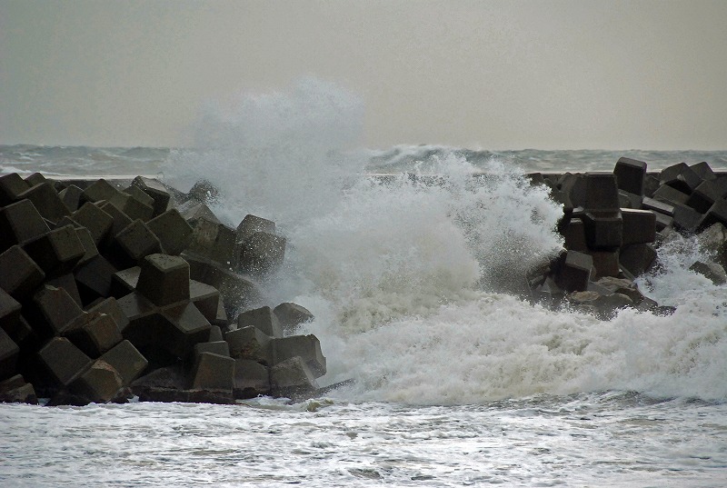
<path id="1" fill-rule="evenodd" d="M 354 378 L 344 399 L 482 403 L 537 393 L 634 390 L 727 398 L 725 287 L 688 270 L 690 243 L 662 247 L 642 278 L 662 317 L 623 311 L 608 322 L 524 302 L 525 272 L 562 247 L 562 214 L 512 161 L 476 165 L 459 151 L 428 154 L 407 174 L 364 174 L 363 108 L 314 79 L 288 93 L 244 95 L 201 117 L 198 147 L 174 151 L 166 179 L 206 178 L 215 212 L 274 220 L 286 265 L 264 284 L 268 304 L 316 316 L 328 358 L 322 383 Z M 420 173 L 419 177 L 417 173 Z M 436 174 L 437 177 L 423 177 Z M 473 177 L 474 173 L 483 173 Z M 702 256 L 703 257 L 703 256 Z"/>

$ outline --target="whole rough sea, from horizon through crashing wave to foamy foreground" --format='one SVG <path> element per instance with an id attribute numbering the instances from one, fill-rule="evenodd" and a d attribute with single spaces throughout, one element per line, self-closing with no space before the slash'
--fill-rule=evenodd
<path id="1" fill-rule="evenodd" d="M 218 120 L 194 149 L 0 146 L 0 174 L 206 179 L 224 223 L 274 220 L 264 303 L 315 315 L 297 332 L 321 341 L 321 386 L 353 380 L 297 403 L 0 404 L 0 485 L 727 486 L 727 285 L 689 270 L 710 259 L 693 236 L 638 279 L 670 315 L 511 292 L 563 246 L 561 206 L 523 174 L 724 171 L 727 151 L 374 150 L 304 118 Z"/>

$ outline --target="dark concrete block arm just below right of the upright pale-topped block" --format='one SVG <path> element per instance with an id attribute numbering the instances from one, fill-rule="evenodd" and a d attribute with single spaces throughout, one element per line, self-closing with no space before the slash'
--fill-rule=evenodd
<path id="1" fill-rule="evenodd" d="M 163 339 L 157 345 L 178 358 L 187 357 L 194 344 L 202 343 L 209 337 L 212 325 L 194 304 L 164 308 L 160 316 Z"/>

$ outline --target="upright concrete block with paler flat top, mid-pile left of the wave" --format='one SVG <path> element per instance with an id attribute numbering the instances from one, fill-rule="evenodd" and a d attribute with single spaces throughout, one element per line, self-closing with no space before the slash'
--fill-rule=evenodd
<path id="1" fill-rule="evenodd" d="M 141 263 L 136 291 L 158 306 L 189 300 L 189 264 L 179 256 L 149 254 Z"/>

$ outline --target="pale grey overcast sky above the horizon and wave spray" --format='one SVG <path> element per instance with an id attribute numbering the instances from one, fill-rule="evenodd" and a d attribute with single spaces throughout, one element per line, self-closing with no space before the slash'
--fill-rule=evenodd
<path id="1" fill-rule="evenodd" d="M 0 144 L 179 146 L 301 77 L 360 144 L 727 149 L 727 1 L 0 0 Z"/>

